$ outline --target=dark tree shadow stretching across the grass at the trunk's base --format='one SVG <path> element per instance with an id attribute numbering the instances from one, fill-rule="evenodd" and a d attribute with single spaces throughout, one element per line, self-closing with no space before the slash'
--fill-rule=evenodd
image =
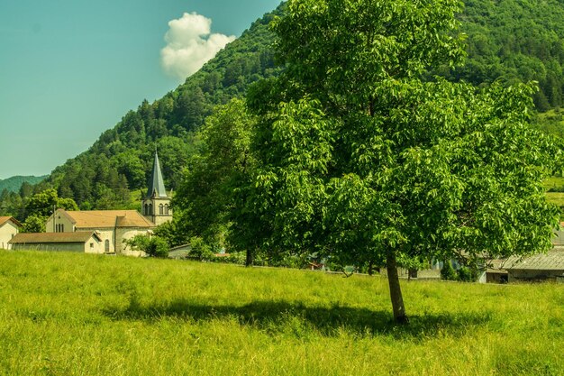
<path id="1" fill-rule="evenodd" d="M 390 309 L 391 311 L 391 309 Z M 135 299 L 125 309 L 106 308 L 104 313 L 115 320 L 159 320 L 175 317 L 186 321 L 214 319 L 234 320 L 268 333 L 325 336 L 391 335 L 395 338 L 429 338 L 438 334 L 461 336 L 485 326 L 491 320 L 488 312 L 445 313 L 410 316 L 407 326 L 396 325 L 391 312 L 361 307 L 306 307 L 299 302 L 253 301 L 242 306 L 212 306 L 188 300 L 167 305 L 141 306 Z"/>

